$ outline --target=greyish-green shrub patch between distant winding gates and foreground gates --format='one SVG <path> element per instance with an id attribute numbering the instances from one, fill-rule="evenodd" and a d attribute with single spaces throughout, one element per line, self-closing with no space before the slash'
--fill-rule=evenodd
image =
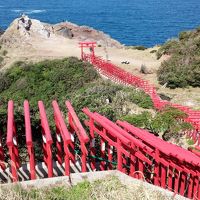
<path id="1" fill-rule="evenodd" d="M 139 93 L 139 97 L 138 97 Z M 134 103 L 139 107 L 150 108 L 142 99 L 149 98 L 143 92 L 138 92 L 134 88 L 128 88 L 111 82 L 98 80 L 79 90 L 71 96 L 73 106 L 78 113 L 83 107 L 88 107 L 91 111 L 98 111 L 111 120 L 116 120 L 130 111 L 129 105 L 133 99 L 138 98 Z M 152 106 L 152 105 L 151 105 Z"/>

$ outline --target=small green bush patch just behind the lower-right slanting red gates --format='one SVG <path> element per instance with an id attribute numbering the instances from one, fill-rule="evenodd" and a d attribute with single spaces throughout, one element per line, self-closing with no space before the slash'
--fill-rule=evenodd
<path id="1" fill-rule="evenodd" d="M 179 133 L 192 129 L 191 124 L 183 121 L 186 117 L 187 115 L 179 109 L 166 107 L 154 116 L 144 111 L 139 115 L 127 115 L 121 119 L 169 140 L 171 137 L 179 138 Z"/>

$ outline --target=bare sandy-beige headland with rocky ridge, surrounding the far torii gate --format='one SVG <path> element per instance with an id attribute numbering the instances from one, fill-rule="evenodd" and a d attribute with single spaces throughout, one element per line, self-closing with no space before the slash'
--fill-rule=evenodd
<path id="1" fill-rule="evenodd" d="M 128 47 L 109 35 L 87 26 L 78 26 L 70 22 L 47 24 L 30 19 L 28 16 L 25 16 L 25 19 L 27 21 L 25 23 L 21 18 L 15 19 L 0 36 L 1 51 L 6 52 L 0 70 L 9 68 L 16 61 L 37 62 L 70 56 L 80 58 L 78 42 L 95 41 L 97 42 L 96 55 L 148 80 L 159 89 L 160 93 L 169 96 L 172 102 L 197 109 L 200 107 L 199 88 L 171 90 L 158 83 L 156 72 L 161 63 L 169 58 L 168 55 L 163 55 L 157 59 L 156 52 L 159 46 Z M 141 73 L 144 66 L 145 72 Z"/>

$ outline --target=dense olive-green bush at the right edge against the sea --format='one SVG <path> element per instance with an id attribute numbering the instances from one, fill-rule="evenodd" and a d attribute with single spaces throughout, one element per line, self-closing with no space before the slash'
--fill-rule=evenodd
<path id="1" fill-rule="evenodd" d="M 200 28 L 181 32 L 179 38 L 166 42 L 157 52 L 158 58 L 170 55 L 158 70 L 160 84 L 167 87 L 200 86 Z"/>

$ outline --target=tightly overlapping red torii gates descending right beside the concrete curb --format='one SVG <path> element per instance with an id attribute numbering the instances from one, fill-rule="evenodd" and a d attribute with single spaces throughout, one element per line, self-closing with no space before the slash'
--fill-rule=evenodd
<path id="1" fill-rule="evenodd" d="M 113 145 L 116 148 L 117 154 L 114 157 L 117 157 L 118 170 L 135 178 L 145 178 L 154 185 L 189 198 L 200 195 L 198 156 L 127 122 L 117 121 L 115 124 L 86 108 L 83 112 L 89 118 L 85 124 L 91 127 L 92 122 L 94 131 L 101 136 L 100 141 L 107 143 L 102 157 L 109 153 L 108 146 Z M 124 143 L 123 139 L 120 139 L 121 136 L 126 137 L 131 145 Z M 130 161 L 127 162 L 127 159 Z M 105 163 L 100 165 L 100 169 L 103 168 L 109 169 Z"/>

